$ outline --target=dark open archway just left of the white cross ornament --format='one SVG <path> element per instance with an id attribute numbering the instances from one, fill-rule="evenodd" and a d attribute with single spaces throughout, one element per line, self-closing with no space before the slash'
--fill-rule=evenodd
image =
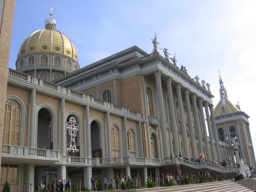
<path id="1" fill-rule="evenodd" d="M 37 148 L 53 149 L 52 116 L 46 108 L 41 108 L 37 116 Z"/>

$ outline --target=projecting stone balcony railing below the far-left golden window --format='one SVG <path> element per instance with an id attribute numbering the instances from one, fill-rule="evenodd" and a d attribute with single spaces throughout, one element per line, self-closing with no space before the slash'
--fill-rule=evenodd
<path id="1" fill-rule="evenodd" d="M 50 149 L 29 148 L 21 146 L 3 145 L 2 156 L 15 156 L 15 157 L 34 157 L 34 158 L 47 158 L 47 159 L 60 159 L 60 151 Z"/>

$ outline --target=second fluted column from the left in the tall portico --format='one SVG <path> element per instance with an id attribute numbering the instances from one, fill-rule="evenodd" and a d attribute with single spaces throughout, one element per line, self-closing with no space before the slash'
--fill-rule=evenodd
<path id="1" fill-rule="evenodd" d="M 178 132 L 177 132 L 177 124 L 176 124 L 176 117 L 175 117 L 175 109 L 174 109 L 174 102 L 173 102 L 173 95 L 172 95 L 172 78 L 169 77 L 166 79 L 167 84 L 167 92 L 169 98 L 169 108 L 171 111 L 171 125 L 172 125 L 172 137 L 173 137 L 173 148 L 175 156 L 180 156 L 180 147 L 179 147 L 179 140 L 178 140 Z M 170 141 L 172 143 L 172 141 Z"/>

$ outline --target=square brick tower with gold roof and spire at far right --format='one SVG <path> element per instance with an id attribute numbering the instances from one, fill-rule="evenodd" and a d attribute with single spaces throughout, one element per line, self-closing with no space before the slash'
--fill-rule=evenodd
<path id="1" fill-rule="evenodd" d="M 220 76 L 220 71 L 219 71 Z M 231 158 L 239 164 L 240 158 L 248 165 L 256 164 L 252 138 L 249 128 L 249 116 L 240 110 L 239 103 L 234 105 L 228 100 L 222 78 L 219 78 L 220 101 L 213 110 L 222 159 Z M 238 148 L 238 155 L 234 146 Z M 236 149 L 237 150 L 237 149 Z"/>

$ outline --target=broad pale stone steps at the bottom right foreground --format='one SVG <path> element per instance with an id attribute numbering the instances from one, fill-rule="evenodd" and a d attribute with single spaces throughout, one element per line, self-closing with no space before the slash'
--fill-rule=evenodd
<path id="1" fill-rule="evenodd" d="M 248 180 L 248 179 L 246 179 Z M 256 183 L 256 180 L 253 180 Z M 247 183 L 247 182 L 246 182 Z M 122 190 L 122 192 L 252 192 L 253 189 L 232 180 L 172 187 L 145 188 L 137 190 Z"/>

